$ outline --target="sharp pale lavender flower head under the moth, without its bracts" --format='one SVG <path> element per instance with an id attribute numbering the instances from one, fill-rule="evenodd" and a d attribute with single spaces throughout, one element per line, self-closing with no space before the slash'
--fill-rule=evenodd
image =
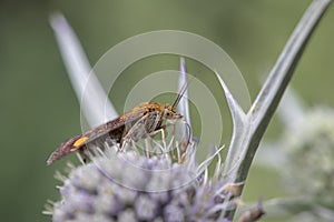
<path id="1" fill-rule="evenodd" d="M 72 168 L 50 213 L 55 222 L 230 221 L 219 216 L 236 206 L 234 194 L 222 189 L 219 176 L 208 179 L 207 171 L 198 176 L 191 162 L 109 147 Z"/>

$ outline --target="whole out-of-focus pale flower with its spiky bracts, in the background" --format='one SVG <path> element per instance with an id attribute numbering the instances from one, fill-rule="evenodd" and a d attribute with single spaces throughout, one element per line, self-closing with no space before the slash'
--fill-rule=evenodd
<path id="1" fill-rule="evenodd" d="M 266 147 L 267 155 L 277 159 L 274 164 L 274 161 L 263 163 L 277 168 L 291 196 L 269 200 L 265 208 L 274 218 L 332 221 L 334 110 L 323 105 L 310 109 L 288 90 L 278 113 L 285 131 L 279 140 Z"/>

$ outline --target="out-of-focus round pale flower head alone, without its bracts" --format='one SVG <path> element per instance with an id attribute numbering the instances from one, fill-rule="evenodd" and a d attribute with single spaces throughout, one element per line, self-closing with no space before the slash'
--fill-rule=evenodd
<path id="1" fill-rule="evenodd" d="M 289 189 L 333 208 L 334 193 L 334 110 L 317 108 L 287 130 L 283 138 L 288 152 Z"/>

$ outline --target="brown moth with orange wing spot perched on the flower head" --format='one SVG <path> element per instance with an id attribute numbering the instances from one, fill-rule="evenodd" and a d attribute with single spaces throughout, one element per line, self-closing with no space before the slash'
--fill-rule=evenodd
<path id="1" fill-rule="evenodd" d="M 56 160 L 59 160 L 71 152 L 79 152 L 85 157 L 87 145 L 96 141 L 111 139 L 116 143 L 119 143 L 121 150 L 126 142 L 138 141 L 155 132 L 160 131 L 164 139 L 164 129 L 166 128 L 166 124 L 163 125 L 163 122 L 183 119 L 183 115 L 177 113 L 175 109 L 186 91 L 186 88 L 187 85 L 183 87 L 173 105 L 144 102 L 115 120 L 68 139 L 51 153 L 47 163 L 51 164 Z M 187 123 L 186 125 L 189 130 L 189 125 Z M 188 142 L 189 138 L 187 143 Z"/>

